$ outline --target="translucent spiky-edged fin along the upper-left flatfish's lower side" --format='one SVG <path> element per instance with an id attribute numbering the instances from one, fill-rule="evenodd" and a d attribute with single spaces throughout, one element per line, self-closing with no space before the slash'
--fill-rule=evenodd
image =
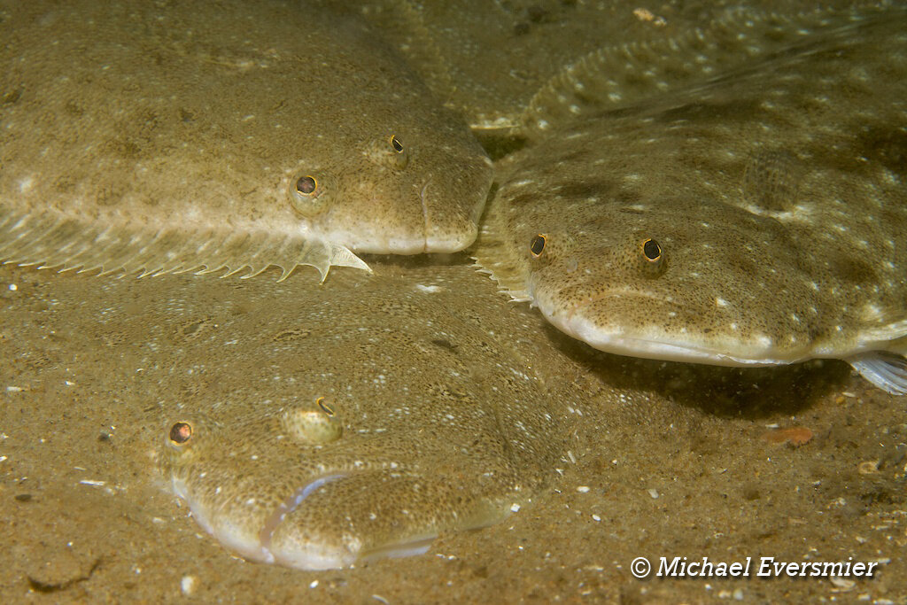
<path id="1" fill-rule="evenodd" d="M 288 278 L 297 265 L 317 268 L 321 281 L 334 266 L 371 272 L 352 251 L 320 239 L 265 231 L 230 233 L 203 230 L 101 228 L 82 220 L 37 217 L 0 207 L 0 262 L 37 265 L 60 271 L 101 271 L 101 275 L 214 273 L 223 277 L 258 275 L 271 265 Z"/>

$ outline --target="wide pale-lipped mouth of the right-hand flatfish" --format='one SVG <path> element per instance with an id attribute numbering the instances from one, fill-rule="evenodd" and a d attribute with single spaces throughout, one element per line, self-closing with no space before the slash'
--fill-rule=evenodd
<path id="1" fill-rule="evenodd" d="M 680 339 L 676 334 L 659 333 L 654 327 L 646 330 L 633 329 L 611 322 L 607 326 L 596 323 L 586 311 L 596 303 L 609 299 L 639 298 L 655 301 L 659 306 L 678 307 L 678 305 L 654 297 L 644 292 L 631 290 L 610 290 L 571 308 L 567 312 L 558 312 L 551 301 L 544 297 L 533 299 L 539 307 L 541 314 L 548 319 L 554 327 L 561 332 L 577 338 L 606 353 L 614 355 L 642 357 L 661 361 L 674 361 L 683 363 L 707 364 L 710 366 L 777 366 L 790 364 L 800 359 L 786 359 L 776 355 L 770 347 L 747 346 L 737 347 L 733 350 L 730 346 L 713 346 L 704 341 L 705 338 L 697 337 L 697 333 L 690 333 L 686 339 Z"/>

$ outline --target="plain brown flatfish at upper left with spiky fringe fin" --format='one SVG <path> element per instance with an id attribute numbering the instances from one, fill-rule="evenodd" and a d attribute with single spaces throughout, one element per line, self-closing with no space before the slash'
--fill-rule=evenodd
<path id="1" fill-rule="evenodd" d="M 355 15 L 0 3 L 0 259 L 286 277 L 468 246 L 491 167 Z"/>

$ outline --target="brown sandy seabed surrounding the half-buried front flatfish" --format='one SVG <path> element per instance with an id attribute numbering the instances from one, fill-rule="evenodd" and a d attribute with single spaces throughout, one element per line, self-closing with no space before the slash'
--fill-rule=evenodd
<path id="1" fill-rule="evenodd" d="M 180 317 L 175 325 L 190 328 L 156 352 L 179 369 L 185 339 L 214 329 L 219 301 L 270 288 L 269 276 L 115 280 L 0 268 L 5 602 L 907 602 L 902 399 L 840 362 L 746 372 L 639 362 L 541 320 L 551 346 L 574 358 L 571 379 L 588 400 L 565 464 L 532 503 L 492 527 L 443 535 L 422 556 L 354 569 L 231 556 L 167 491 L 155 459 L 161 400 L 203 396 L 212 376 L 144 380 L 141 314 L 174 280 L 210 299 L 210 316 Z M 314 287 L 310 277 L 298 270 L 291 288 Z M 114 307 L 134 316 L 110 321 Z M 274 305 L 268 329 L 280 322 Z M 602 385 L 647 390 L 653 403 L 603 403 Z M 754 562 L 749 577 L 640 581 L 631 573 L 640 556 L 655 571 L 661 557 Z M 876 565 L 872 578 L 757 577 L 763 557 Z"/>

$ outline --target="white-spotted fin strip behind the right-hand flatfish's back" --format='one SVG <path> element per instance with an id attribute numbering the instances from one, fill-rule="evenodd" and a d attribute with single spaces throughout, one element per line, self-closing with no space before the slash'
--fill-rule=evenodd
<path id="1" fill-rule="evenodd" d="M 540 136 L 583 115 L 706 82 L 808 39 L 816 30 L 869 14 L 820 10 L 775 15 L 733 8 L 706 27 L 674 37 L 604 47 L 568 65 L 541 87 L 526 108 L 523 129 L 529 136 Z"/>

